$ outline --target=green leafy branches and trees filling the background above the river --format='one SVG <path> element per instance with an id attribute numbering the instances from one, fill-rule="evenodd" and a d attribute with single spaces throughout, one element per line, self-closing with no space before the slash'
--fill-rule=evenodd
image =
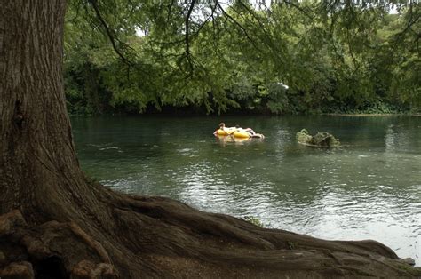
<path id="1" fill-rule="evenodd" d="M 420 7 L 73 0 L 65 39 L 69 110 L 417 111 Z"/>

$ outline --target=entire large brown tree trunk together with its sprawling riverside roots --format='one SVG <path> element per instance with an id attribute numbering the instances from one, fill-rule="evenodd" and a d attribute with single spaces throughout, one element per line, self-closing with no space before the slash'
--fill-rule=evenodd
<path id="1" fill-rule="evenodd" d="M 380 243 L 264 229 L 89 183 L 63 92 L 65 6 L 0 5 L 0 277 L 415 275 Z"/>

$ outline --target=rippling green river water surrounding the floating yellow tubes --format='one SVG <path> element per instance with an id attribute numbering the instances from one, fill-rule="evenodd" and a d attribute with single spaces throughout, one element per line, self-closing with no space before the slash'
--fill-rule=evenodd
<path id="1" fill-rule="evenodd" d="M 265 140 L 217 140 L 218 123 Z M 115 190 L 324 239 L 374 239 L 421 265 L 421 117 L 73 118 L 83 170 Z M 344 147 L 297 143 L 302 128 Z"/>

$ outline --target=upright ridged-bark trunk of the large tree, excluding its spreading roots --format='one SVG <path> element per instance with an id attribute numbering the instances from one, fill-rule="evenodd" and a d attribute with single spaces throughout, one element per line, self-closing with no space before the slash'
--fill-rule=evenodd
<path id="1" fill-rule="evenodd" d="M 85 183 L 62 83 L 66 3 L 19 0 L 1 6 L 0 211 L 18 208 L 34 221 L 40 210 L 71 216 L 75 209 L 69 205 L 84 194 Z"/>

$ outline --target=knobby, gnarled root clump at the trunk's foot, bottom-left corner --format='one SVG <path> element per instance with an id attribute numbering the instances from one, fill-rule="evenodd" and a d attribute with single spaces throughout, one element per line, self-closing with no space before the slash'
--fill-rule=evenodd
<path id="1" fill-rule="evenodd" d="M 115 278 L 107 251 L 75 223 L 29 227 L 20 211 L 0 217 L 1 278 Z"/>

